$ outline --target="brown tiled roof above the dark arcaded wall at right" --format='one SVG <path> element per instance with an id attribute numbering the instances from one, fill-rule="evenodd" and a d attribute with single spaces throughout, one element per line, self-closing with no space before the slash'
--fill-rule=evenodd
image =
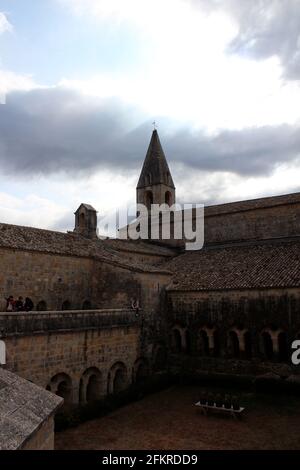
<path id="1" fill-rule="evenodd" d="M 189 251 L 164 267 L 173 271 L 168 290 L 300 287 L 300 237 Z"/>

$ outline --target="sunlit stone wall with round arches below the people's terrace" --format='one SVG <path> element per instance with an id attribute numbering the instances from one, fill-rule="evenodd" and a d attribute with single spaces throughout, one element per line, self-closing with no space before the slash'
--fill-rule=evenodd
<path id="1" fill-rule="evenodd" d="M 144 323 L 142 312 L 136 316 L 132 310 L 0 314 L 6 367 L 48 386 L 67 404 L 85 402 L 89 379 L 95 376 L 94 394 L 101 398 L 114 393 L 118 370 L 123 371 L 119 390 L 135 380 L 140 365 L 151 366 L 155 345 L 143 347 Z"/>

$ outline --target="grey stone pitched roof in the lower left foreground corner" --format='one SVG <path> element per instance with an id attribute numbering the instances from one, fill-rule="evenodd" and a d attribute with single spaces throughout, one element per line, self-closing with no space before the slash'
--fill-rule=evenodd
<path id="1" fill-rule="evenodd" d="M 22 449 L 63 399 L 0 367 L 0 450 Z"/>

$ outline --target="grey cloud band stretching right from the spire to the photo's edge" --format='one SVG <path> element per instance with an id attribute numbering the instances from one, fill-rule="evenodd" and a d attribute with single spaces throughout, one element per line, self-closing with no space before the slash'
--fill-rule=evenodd
<path id="1" fill-rule="evenodd" d="M 300 130 L 289 125 L 266 126 L 226 130 L 213 137 L 183 130 L 165 147 L 173 159 L 192 168 L 265 175 L 299 157 Z"/>

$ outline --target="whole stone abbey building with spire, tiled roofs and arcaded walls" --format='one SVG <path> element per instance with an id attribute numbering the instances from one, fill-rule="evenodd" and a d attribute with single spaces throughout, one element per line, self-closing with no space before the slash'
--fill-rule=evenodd
<path id="1" fill-rule="evenodd" d="M 175 201 L 154 130 L 137 202 Z M 206 207 L 200 251 L 101 240 L 96 230 L 87 204 L 73 232 L 0 224 L 0 310 L 11 294 L 35 304 L 30 313 L 0 313 L 3 373 L 65 405 L 166 372 L 298 380 L 290 357 L 300 339 L 300 193 Z"/>

